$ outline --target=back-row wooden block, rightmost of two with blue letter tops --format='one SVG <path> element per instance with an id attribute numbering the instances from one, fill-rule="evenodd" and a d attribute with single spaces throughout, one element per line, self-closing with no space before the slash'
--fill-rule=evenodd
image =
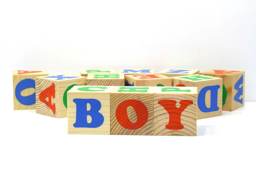
<path id="1" fill-rule="evenodd" d="M 163 74 L 164 76 L 167 76 L 167 77 L 177 77 L 177 76 L 199 74 L 199 70 L 167 68 L 162 71 L 159 71 L 158 74 Z"/>

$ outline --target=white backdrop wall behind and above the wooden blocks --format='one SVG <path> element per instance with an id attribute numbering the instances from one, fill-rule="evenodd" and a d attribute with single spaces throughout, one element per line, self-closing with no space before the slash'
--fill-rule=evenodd
<path id="1" fill-rule="evenodd" d="M 1 0 L 0 68 L 244 70 L 256 101 L 255 18 L 256 0 Z"/>

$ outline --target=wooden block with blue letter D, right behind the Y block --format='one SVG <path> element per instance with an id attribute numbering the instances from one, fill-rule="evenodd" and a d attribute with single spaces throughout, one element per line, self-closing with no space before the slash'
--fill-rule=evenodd
<path id="1" fill-rule="evenodd" d="M 198 88 L 197 119 L 222 115 L 222 79 L 204 75 L 172 77 L 172 86 Z"/>

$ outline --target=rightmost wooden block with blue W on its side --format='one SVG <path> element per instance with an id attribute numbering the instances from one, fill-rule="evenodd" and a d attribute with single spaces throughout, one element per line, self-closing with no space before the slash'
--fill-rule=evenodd
<path id="1" fill-rule="evenodd" d="M 223 111 L 234 111 L 244 106 L 244 71 L 209 70 L 200 74 L 223 79 Z"/>

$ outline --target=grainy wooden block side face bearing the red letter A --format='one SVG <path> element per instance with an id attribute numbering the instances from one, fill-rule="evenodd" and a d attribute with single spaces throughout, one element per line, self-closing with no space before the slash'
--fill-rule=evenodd
<path id="1" fill-rule="evenodd" d="M 35 79 L 36 113 L 58 118 L 58 83 L 49 79 Z"/>

